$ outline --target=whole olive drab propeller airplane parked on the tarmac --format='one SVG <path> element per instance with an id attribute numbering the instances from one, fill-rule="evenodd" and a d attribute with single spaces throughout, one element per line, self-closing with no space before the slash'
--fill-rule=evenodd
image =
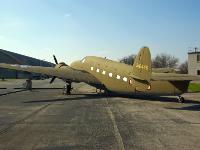
<path id="1" fill-rule="evenodd" d="M 85 82 L 97 89 L 121 94 L 144 94 L 177 96 L 184 102 L 182 93 L 187 92 L 190 81 L 199 80 L 198 76 L 176 73 L 154 73 L 151 67 L 151 53 L 148 47 L 140 49 L 132 66 L 96 56 L 86 56 L 70 66 L 61 62 L 55 67 L 28 66 L 0 63 L 1 68 L 41 73 L 60 78 L 68 83 L 70 94 L 72 82 Z"/>

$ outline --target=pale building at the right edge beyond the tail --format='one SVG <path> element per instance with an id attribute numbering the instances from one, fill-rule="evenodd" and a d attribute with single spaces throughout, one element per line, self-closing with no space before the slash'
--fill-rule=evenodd
<path id="1" fill-rule="evenodd" d="M 198 48 L 188 52 L 188 74 L 200 75 L 200 51 Z"/>

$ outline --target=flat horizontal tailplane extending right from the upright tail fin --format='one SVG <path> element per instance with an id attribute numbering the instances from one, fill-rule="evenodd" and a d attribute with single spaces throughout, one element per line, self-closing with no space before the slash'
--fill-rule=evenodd
<path id="1" fill-rule="evenodd" d="M 193 81 L 200 80 L 199 76 L 176 73 L 152 73 L 151 80 L 154 81 Z"/>

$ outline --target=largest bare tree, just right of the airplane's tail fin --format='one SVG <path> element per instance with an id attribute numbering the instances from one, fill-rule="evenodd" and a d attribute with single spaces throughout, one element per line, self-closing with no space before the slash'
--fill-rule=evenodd
<path id="1" fill-rule="evenodd" d="M 175 68 L 178 64 L 178 58 L 168 54 L 158 54 L 152 60 L 152 67 L 154 68 Z"/>

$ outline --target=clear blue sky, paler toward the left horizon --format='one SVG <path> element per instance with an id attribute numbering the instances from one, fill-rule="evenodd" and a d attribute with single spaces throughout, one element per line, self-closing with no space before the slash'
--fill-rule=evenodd
<path id="1" fill-rule="evenodd" d="M 187 59 L 200 47 L 199 0 L 0 0 L 0 48 L 53 62 L 119 59 L 142 46 Z"/>

